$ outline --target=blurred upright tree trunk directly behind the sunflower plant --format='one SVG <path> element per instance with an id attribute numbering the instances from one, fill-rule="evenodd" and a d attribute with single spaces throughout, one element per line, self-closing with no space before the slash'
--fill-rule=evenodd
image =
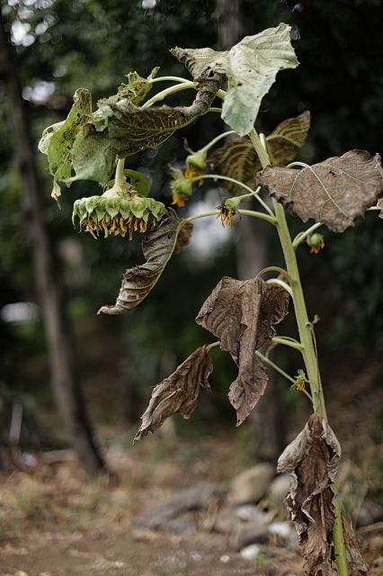
<path id="1" fill-rule="evenodd" d="M 244 0 L 218 0 L 217 16 L 219 18 L 218 47 L 221 50 L 231 49 L 246 35 L 254 34 L 249 29 Z M 248 205 L 246 208 L 258 210 L 259 206 Z M 236 269 L 238 279 L 254 278 L 263 268 L 270 266 L 268 258 L 270 224 L 243 216 L 237 226 Z M 278 456 L 286 446 L 283 410 L 277 390 L 277 377 L 272 369 L 267 369 L 269 381 L 263 397 L 256 404 L 249 416 L 254 430 L 256 455 L 263 460 L 276 463 Z"/>

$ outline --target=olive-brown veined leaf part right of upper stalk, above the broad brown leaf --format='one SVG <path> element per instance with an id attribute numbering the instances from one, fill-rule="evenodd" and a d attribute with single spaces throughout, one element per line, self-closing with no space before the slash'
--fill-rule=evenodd
<path id="1" fill-rule="evenodd" d="M 307 139 L 311 114 L 303 112 L 296 118 L 288 118 L 266 138 L 267 151 L 272 164 L 289 164 Z"/>

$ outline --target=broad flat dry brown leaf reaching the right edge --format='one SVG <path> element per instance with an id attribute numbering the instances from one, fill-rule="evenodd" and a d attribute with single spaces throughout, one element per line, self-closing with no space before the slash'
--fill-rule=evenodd
<path id="1" fill-rule="evenodd" d="M 266 166 L 258 174 L 264 186 L 293 216 L 323 222 L 343 232 L 364 219 L 364 212 L 383 194 L 380 157 L 351 150 L 301 170 Z"/>

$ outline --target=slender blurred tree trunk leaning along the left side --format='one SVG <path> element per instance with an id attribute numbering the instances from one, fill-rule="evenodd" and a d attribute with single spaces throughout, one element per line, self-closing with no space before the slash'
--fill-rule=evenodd
<path id="1" fill-rule="evenodd" d="M 22 185 L 22 211 L 31 237 L 35 281 L 47 332 L 49 368 L 54 398 L 71 444 L 89 473 L 103 466 L 82 394 L 76 383 L 64 298 L 53 250 L 43 220 L 41 187 L 31 140 L 28 104 L 22 100 L 13 50 L 0 13 L 0 79 Z"/>

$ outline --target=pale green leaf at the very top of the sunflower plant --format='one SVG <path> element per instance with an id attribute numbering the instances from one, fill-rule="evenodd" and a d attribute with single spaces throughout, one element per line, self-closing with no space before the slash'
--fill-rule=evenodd
<path id="1" fill-rule="evenodd" d="M 246 36 L 227 52 L 211 49 L 174 49 L 191 75 L 203 82 L 211 73 L 228 78 L 222 118 L 240 136 L 248 134 L 261 100 L 268 93 L 279 70 L 298 66 L 290 42 L 290 27 L 281 23 L 255 36 Z"/>

